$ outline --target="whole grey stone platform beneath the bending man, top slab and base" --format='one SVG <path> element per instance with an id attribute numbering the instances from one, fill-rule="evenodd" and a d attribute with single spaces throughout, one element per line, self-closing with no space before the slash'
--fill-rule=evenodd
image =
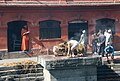
<path id="1" fill-rule="evenodd" d="M 102 64 L 101 57 L 39 57 L 44 67 L 44 81 L 97 81 L 97 66 Z"/>

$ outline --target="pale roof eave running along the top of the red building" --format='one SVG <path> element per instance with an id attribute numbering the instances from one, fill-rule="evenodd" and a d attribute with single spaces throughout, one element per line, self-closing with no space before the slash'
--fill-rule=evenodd
<path id="1" fill-rule="evenodd" d="M 36 1 L 0 1 L 1 7 L 57 7 L 57 6 L 119 6 L 120 2 L 36 2 Z"/>

